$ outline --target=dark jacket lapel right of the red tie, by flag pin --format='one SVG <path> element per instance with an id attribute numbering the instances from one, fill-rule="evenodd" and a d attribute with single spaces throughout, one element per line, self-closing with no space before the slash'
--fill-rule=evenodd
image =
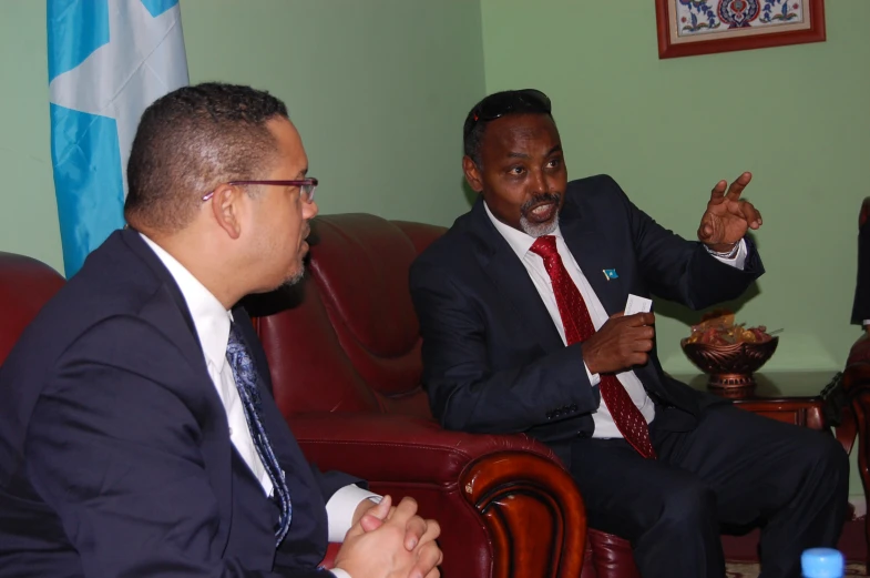
<path id="1" fill-rule="evenodd" d="M 560 215 L 560 230 L 565 239 L 565 244 L 574 261 L 580 265 L 583 276 L 586 277 L 592 291 L 601 301 L 607 315 L 613 315 L 625 308 L 626 290 L 623 277 L 608 280 L 605 270 L 616 270 L 617 260 L 602 250 L 604 235 L 596 229 L 596 224 L 580 213 L 575 205 L 566 202 Z"/>

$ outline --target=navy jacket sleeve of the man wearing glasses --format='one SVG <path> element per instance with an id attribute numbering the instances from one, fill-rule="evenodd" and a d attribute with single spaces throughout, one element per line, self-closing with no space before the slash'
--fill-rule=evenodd
<path id="1" fill-rule="evenodd" d="M 175 388 L 194 373 L 156 328 L 105 321 L 50 376 L 27 468 L 83 576 L 323 578 L 314 568 L 276 575 L 223 558 L 218 500 L 198 449 L 203 429 Z"/>

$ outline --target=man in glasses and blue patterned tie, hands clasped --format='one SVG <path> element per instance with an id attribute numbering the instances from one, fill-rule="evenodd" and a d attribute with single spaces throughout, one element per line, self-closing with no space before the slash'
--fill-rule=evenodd
<path id="1" fill-rule="evenodd" d="M 0 369 L 0 576 L 438 576 L 413 500 L 305 462 L 236 306 L 301 276 L 307 166 L 268 93 L 201 84 L 145 111 L 130 229 Z"/>

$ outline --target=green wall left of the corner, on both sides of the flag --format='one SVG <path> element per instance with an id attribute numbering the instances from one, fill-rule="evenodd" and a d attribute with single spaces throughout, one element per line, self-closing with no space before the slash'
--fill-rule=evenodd
<path id="1" fill-rule="evenodd" d="M 191 82 L 287 102 L 323 213 L 450 224 L 464 212 L 461 123 L 483 95 L 467 0 L 182 0 Z M 63 271 L 49 150 L 44 0 L 0 2 L 0 251 Z"/>

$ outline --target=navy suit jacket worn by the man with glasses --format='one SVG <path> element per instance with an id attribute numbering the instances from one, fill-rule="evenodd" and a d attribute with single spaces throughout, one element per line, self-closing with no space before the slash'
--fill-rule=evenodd
<path id="1" fill-rule="evenodd" d="M 229 439 L 184 298 L 127 230 L 88 257 L 0 368 L 0 577 L 324 576 L 325 503 L 358 480 L 309 467 L 250 321 L 234 316 L 290 488 L 280 548 L 278 509 Z"/>

